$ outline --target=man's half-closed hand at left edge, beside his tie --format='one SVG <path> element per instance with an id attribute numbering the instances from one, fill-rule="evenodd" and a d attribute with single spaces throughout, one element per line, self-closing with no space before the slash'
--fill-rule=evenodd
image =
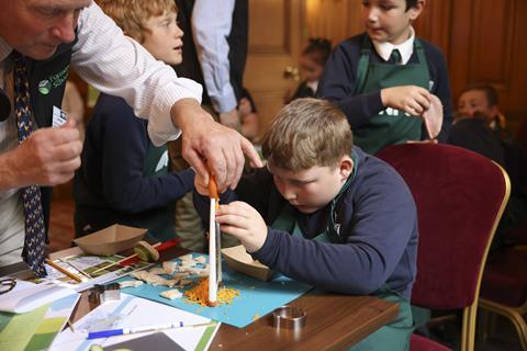
<path id="1" fill-rule="evenodd" d="M 74 178 L 75 170 L 80 167 L 81 150 L 79 131 L 72 120 L 58 128 L 37 129 L 5 155 L 11 184 L 3 183 L 0 188 L 65 183 Z"/>

